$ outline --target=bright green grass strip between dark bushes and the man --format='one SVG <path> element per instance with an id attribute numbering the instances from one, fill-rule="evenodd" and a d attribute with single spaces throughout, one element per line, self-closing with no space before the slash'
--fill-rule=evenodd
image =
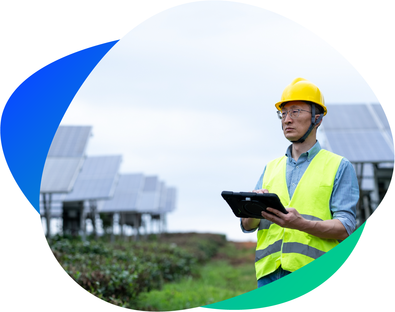
<path id="1" fill-rule="evenodd" d="M 257 288 L 254 248 L 237 249 L 232 243 L 220 248 L 216 258 L 199 269 L 199 275 L 164 284 L 162 290 L 140 293 L 138 310 L 174 311 L 215 303 Z M 221 259 L 222 258 L 222 259 Z M 236 263 L 233 264 L 232 263 Z"/>

